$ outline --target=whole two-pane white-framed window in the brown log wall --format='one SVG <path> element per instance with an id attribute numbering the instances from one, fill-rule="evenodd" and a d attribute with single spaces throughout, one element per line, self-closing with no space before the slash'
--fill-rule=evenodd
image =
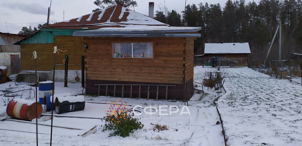
<path id="1" fill-rule="evenodd" d="M 153 43 L 113 43 L 113 57 L 153 58 Z"/>

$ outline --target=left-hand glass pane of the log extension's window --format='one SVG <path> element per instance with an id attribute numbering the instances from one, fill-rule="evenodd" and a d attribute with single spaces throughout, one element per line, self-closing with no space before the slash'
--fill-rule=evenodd
<path id="1" fill-rule="evenodd" d="M 132 43 L 113 43 L 113 57 L 132 57 Z"/>

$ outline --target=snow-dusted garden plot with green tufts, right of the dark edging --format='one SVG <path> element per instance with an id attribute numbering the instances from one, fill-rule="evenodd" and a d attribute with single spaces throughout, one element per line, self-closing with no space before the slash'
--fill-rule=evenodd
<path id="1" fill-rule="evenodd" d="M 226 78 L 218 107 L 230 146 L 302 145 L 301 85 L 250 68 L 228 72 L 236 78 Z"/>

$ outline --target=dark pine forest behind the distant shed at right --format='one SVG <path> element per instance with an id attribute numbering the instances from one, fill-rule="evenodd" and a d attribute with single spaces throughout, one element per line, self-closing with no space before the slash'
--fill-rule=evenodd
<path id="1" fill-rule="evenodd" d="M 195 43 L 194 54 L 204 53 L 204 43 L 248 42 L 251 57 L 263 60 L 281 19 L 282 59 L 289 52 L 302 54 L 301 0 L 261 0 L 259 3 L 228 0 L 219 3 L 186 5 L 182 16 L 164 6 L 156 11 L 155 19 L 170 26 L 202 27 L 203 37 Z M 279 33 L 268 59 L 278 59 Z"/>

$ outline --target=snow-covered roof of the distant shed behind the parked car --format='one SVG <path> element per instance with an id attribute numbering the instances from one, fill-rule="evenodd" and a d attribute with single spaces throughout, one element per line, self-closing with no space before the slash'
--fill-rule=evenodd
<path id="1" fill-rule="evenodd" d="M 205 43 L 204 54 L 251 53 L 249 43 Z"/>

